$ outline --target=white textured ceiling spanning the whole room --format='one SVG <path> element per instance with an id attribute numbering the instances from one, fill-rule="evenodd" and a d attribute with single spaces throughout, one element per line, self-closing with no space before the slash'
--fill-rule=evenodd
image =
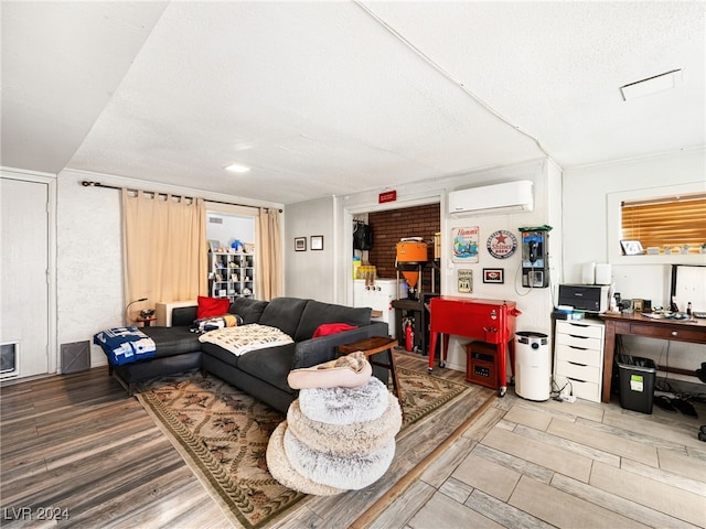
<path id="1" fill-rule="evenodd" d="M 706 143 L 704 2 L 2 2 L 2 165 L 295 203 Z M 674 68 L 685 83 L 623 101 Z M 253 168 L 244 175 L 229 163 Z"/>

